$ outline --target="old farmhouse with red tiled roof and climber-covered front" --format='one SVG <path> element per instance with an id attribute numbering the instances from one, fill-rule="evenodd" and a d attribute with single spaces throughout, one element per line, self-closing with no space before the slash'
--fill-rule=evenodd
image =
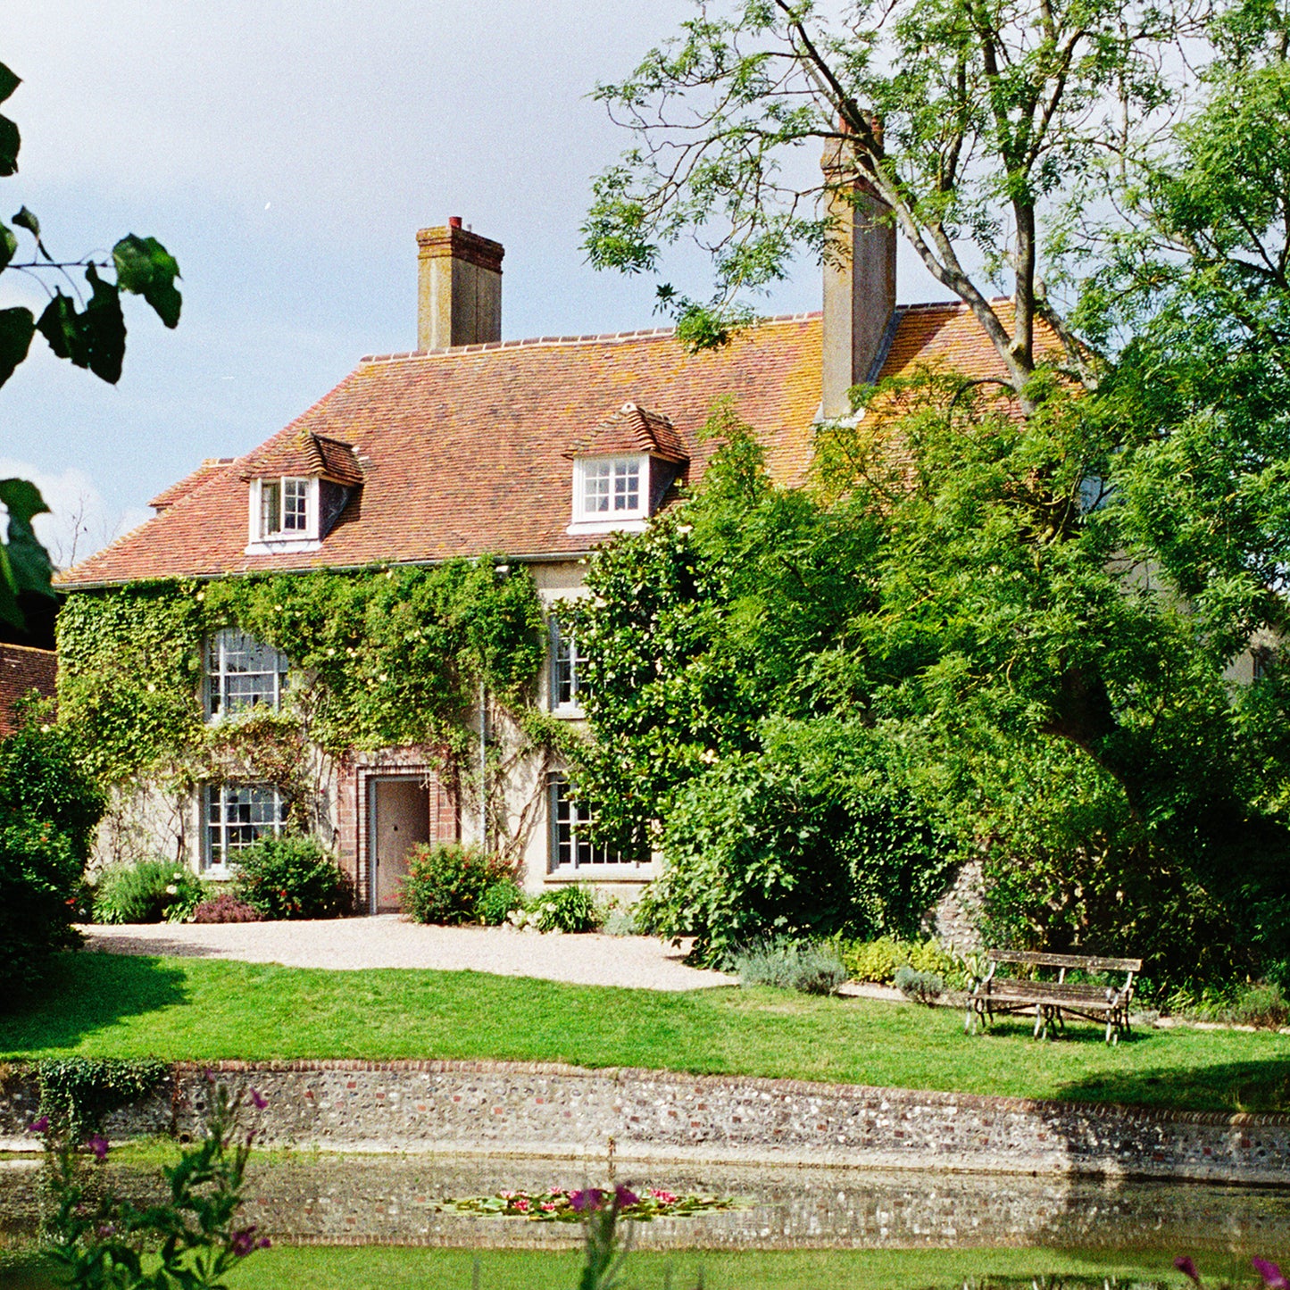
<path id="1" fill-rule="evenodd" d="M 101 666 L 74 637 L 79 605 L 117 623 L 121 649 L 143 650 L 93 698 L 115 713 L 104 729 L 125 749 L 111 764 L 102 859 L 161 854 L 222 876 L 241 848 L 294 818 L 334 846 L 373 912 L 393 906 L 408 850 L 426 840 L 506 848 L 522 858 L 530 889 L 587 878 L 639 886 L 657 862 L 588 840 L 551 735 L 551 722 L 577 728 L 580 716 L 578 641 L 561 630 L 560 605 L 579 595 L 588 552 L 642 529 L 703 477 L 713 444 L 699 431 L 724 396 L 761 437 L 773 476 L 792 485 L 810 464 L 813 427 L 849 412 L 853 384 L 916 364 L 1001 372 L 965 308 L 897 306 L 895 233 L 863 205 L 850 254 L 826 264 L 822 312 L 769 319 L 702 353 L 671 330 L 503 342 L 503 248 L 459 219 L 417 241 L 415 350 L 362 359 L 267 442 L 204 461 L 152 501 L 152 520 L 62 575 L 62 685 L 84 689 Z M 382 744 L 369 731 L 348 746 L 334 729 L 315 737 L 299 706 L 337 646 L 306 666 L 275 645 L 272 611 L 284 630 L 297 615 L 284 604 L 267 618 L 262 609 L 261 628 L 232 610 L 200 617 L 204 588 L 214 597 L 271 575 L 393 577 L 462 560 L 481 561 L 494 579 L 531 579 L 546 663 L 526 703 L 544 735 L 481 681 L 455 734 L 436 726 L 432 737 Z M 190 624 L 190 636 L 166 637 L 188 641 L 178 649 L 186 658 L 166 657 L 161 637 L 151 654 L 142 632 L 132 637 L 114 606 L 141 593 L 155 615 L 173 609 L 174 622 Z M 316 617 L 324 631 L 325 610 Z M 203 635 L 192 637 L 199 620 Z M 350 657 L 360 667 L 361 642 L 341 648 L 335 666 Z M 163 672 L 179 677 L 169 707 Z M 366 684 L 379 694 L 392 684 L 388 670 Z M 412 729 L 406 711 L 387 716 L 372 729 Z M 294 742 L 284 743 L 288 719 Z M 223 752 L 166 761 L 156 739 L 181 728 L 194 747 L 192 731 L 205 730 Z M 254 739 L 230 752 L 239 729 L 263 731 L 272 755 Z M 144 744 L 150 752 L 138 751 Z"/>

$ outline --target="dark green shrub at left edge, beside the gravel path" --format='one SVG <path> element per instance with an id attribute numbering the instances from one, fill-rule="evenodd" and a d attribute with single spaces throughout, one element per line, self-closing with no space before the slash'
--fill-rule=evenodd
<path id="1" fill-rule="evenodd" d="M 39 706 L 0 740 L 0 1010 L 36 987 L 49 956 L 77 942 L 81 871 L 103 797 L 71 738 Z"/>

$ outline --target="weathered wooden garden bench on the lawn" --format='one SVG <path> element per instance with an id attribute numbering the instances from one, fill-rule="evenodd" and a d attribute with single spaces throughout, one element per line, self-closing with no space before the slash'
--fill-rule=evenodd
<path id="1" fill-rule="evenodd" d="M 986 961 L 989 970 L 977 983 L 968 997 L 968 1017 L 964 1029 L 973 1035 L 978 1023 L 989 1026 L 996 1017 L 1017 1015 L 1035 1010 L 1035 1037 L 1046 1037 L 1050 1028 L 1064 1028 L 1066 1018 L 1082 1017 L 1104 1024 L 1107 1042 L 1118 1044 L 1120 1035 L 1130 1035 L 1129 1005 L 1133 1002 L 1133 979 L 1142 971 L 1140 958 L 1095 958 L 1082 955 L 1044 955 L 1023 949 L 988 949 Z M 1000 964 L 1058 970 L 1057 980 L 1036 978 L 997 977 Z M 1073 970 L 1099 973 L 1125 973 L 1124 984 L 1084 986 L 1068 983 L 1066 974 Z"/>

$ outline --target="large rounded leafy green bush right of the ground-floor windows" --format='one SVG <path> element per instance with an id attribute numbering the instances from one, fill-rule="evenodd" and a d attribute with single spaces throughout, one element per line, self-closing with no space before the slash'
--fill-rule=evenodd
<path id="1" fill-rule="evenodd" d="M 693 935 L 721 962 L 760 937 L 908 934 L 953 864 L 872 733 L 777 720 L 765 748 L 730 753 L 686 783 L 663 831 L 667 867 L 639 922 Z"/>

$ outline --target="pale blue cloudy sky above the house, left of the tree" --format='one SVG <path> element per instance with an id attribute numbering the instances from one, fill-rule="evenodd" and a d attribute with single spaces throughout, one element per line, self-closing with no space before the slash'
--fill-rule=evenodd
<path id="1" fill-rule="evenodd" d="M 89 553 L 204 457 L 246 452 L 369 352 L 415 343 L 415 230 L 459 214 L 503 243 L 503 335 L 658 322 L 651 284 L 595 273 L 578 226 L 628 135 L 587 98 L 689 0 L 5 0 L 23 133 L 0 217 L 57 254 L 159 237 L 183 273 L 166 332 L 129 308 L 117 387 L 49 356 L 0 388 L 0 473 Z M 8 206 L 3 204 L 8 201 Z M 702 292 L 697 255 L 670 276 Z M 926 297 L 926 290 L 913 297 Z M 5 306 L 31 303 L 17 275 Z M 142 304 L 130 301 L 129 304 Z M 819 307 L 802 264 L 768 311 Z"/>

